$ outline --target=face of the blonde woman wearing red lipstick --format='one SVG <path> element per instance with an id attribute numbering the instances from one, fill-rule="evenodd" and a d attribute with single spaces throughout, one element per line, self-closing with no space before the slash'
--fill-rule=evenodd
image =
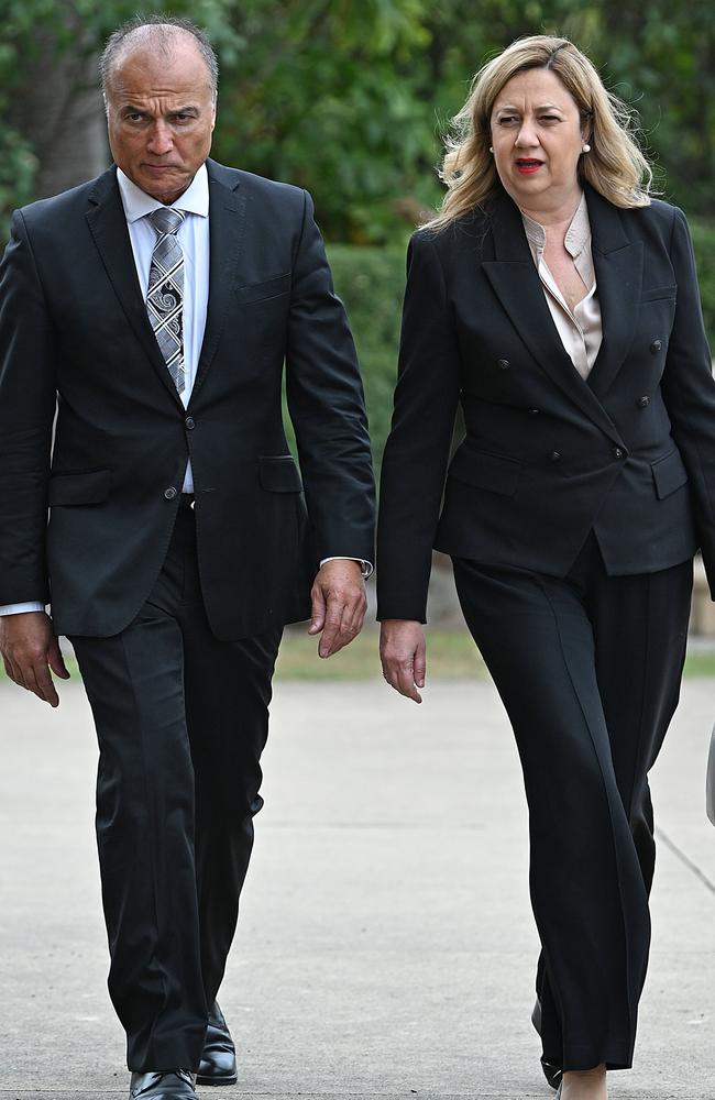
<path id="1" fill-rule="evenodd" d="M 576 165 L 586 138 L 558 76 L 543 68 L 517 73 L 496 97 L 491 128 L 496 170 L 517 206 L 557 211 L 578 200 Z"/>

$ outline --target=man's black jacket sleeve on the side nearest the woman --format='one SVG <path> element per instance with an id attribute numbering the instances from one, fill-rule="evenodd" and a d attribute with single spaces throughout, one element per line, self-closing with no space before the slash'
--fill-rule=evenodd
<path id="1" fill-rule="evenodd" d="M 286 395 L 316 558 L 373 561 L 375 485 L 362 380 L 307 191 L 293 270 Z"/>

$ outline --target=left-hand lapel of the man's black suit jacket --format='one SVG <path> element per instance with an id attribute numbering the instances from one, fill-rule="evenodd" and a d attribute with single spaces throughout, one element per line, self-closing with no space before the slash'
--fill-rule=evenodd
<path id="1" fill-rule="evenodd" d="M 87 223 L 114 293 L 127 315 L 127 320 L 136 333 L 167 393 L 174 402 L 182 405 L 176 386 L 166 369 L 164 356 L 156 343 L 156 337 L 146 314 L 146 305 L 142 298 L 124 208 L 117 186 L 116 168 L 109 168 L 98 178 L 97 185 L 89 196 L 89 202 Z"/>

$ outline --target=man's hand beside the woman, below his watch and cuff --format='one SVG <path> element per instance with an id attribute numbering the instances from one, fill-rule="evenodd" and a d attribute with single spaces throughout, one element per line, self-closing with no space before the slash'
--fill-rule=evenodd
<path id="1" fill-rule="evenodd" d="M 350 645 L 363 627 L 367 598 L 359 561 L 336 558 L 320 566 L 310 593 L 308 634 L 320 634 L 319 657 L 332 657 Z"/>

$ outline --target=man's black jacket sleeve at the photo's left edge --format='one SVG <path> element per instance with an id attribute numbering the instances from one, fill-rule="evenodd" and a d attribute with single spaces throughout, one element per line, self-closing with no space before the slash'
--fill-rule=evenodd
<path id="1" fill-rule="evenodd" d="M 0 264 L 0 604 L 50 598 L 55 339 L 22 211 Z"/>

